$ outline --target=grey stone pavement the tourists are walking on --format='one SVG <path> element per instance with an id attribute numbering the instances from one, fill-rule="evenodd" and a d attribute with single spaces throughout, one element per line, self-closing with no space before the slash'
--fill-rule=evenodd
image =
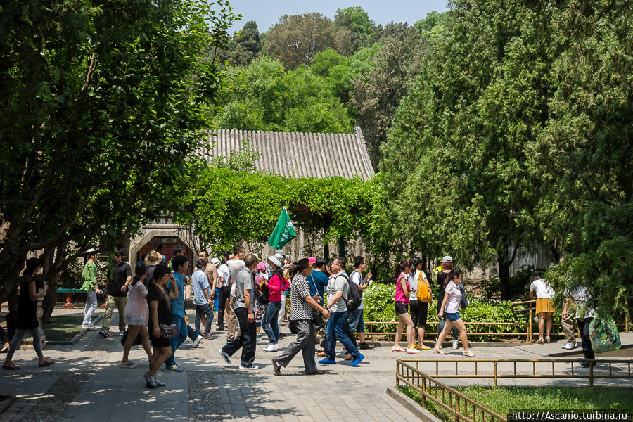
<path id="1" fill-rule="evenodd" d="M 102 312 L 103 309 L 98 309 L 96 313 Z M 55 309 L 55 313 L 81 314 L 82 309 Z M 193 326 L 191 311 L 189 316 Z M 239 352 L 234 356 L 233 366 L 226 365 L 219 357 L 217 350 L 226 338 L 224 333 L 219 333 L 214 340 L 203 340 L 201 347 L 192 348 L 191 340 L 186 340 L 176 353 L 177 362 L 185 371 L 160 371 L 159 378 L 167 386 L 149 390 L 142 378 L 147 361 L 141 347 L 133 347 L 130 354 L 138 364 L 136 369 L 123 369 L 118 365 L 122 346 L 115 333 L 117 319 L 115 312 L 114 328 L 107 339 L 94 331 L 75 345 L 46 347 L 46 356 L 56 359 L 56 364 L 48 368 L 37 367 L 32 350 L 18 351 L 14 360 L 22 369 L 0 372 L 0 395 L 18 397 L 0 414 L 0 421 L 417 420 L 385 394 L 388 387 L 395 385 L 395 359 L 414 357 L 392 353 L 390 347 L 366 351 L 365 361 L 357 368 L 350 368 L 349 362 L 343 359 L 336 365 L 320 366 L 326 371 L 324 376 L 303 376 L 302 359 L 298 355 L 282 369 L 284 376 L 276 377 L 270 359 L 281 351 L 264 352 L 267 342 L 260 340 L 255 360 L 260 369 L 248 373 L 240 371 L 235 364 L 239 363 Z M 288 328 L 284 325 L 282 331 L 287 332 Z M 281 340 L 281 349 L 293 340 L 294 336 Z M 554 350 L 554 345 L 548 347 Z M 473 348 L 473 352 L 480 358 L 539 357 L 535 352 L 522 350 L 524 348 L 479 347 Z M 561 350 L 559 345 L 557 348 Z M 461 358 L 461 352 L 461 349 L 448 349 L 447 355 L 440 359 Z M 434 358 L 430 352 L 422 352 L 417 357 Z M 434 371 L 435 364 L 424 363 L 421 367 Z M 525 370 L 528 371 L 527 366 Z M 532 381 L 538 385 L 548 382 Z M 630 385 L 630 380 L 610 380 L 604 384 Z"/>

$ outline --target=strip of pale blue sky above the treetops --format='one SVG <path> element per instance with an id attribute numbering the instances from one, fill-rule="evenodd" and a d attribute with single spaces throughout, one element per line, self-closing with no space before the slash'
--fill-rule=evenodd
<path id="1" fill-rule="evenodd" d="M 300 15 L 309 12 L 323 13 L 334 19 L 336 9 L 350 6 L 361 6 L 369 14 L 376 25 L 394 22 L 407 22 L 410 25 L 424 18 L 430 11 L 446 10 L 446 0 L 229 0 L 231 7 L 243 15 L 233 30 L 241 30 L 249 20 L 257 22 L 260 32 L 265 32 L 279 21 L 281 15 Z"/>

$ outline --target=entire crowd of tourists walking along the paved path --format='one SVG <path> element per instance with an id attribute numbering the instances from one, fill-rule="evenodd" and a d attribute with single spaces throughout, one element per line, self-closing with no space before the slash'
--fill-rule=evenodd
<path id="1" fill-rule="evenodd" d="M 276 252 L 260 260 L 254 253 L 245 253 L 245 248 L 236 245 L 224 254 L 224 261 L 217 257 L 209 260 L 206 251 L 198 254 L 189 271 L 188 259 L 181 246 L 174 248 L 172 259 L 166 258 L 158 250 L 152 250 L 136 262 L 134 276 L 132 268 L 124 261 L 124 251 L 115 250 L 114 264 L 110 268 L 105 292 L 106 312 L 101 328 L 96 328 L 92 316 L 96 309 L 97 296 L 103 292 L 99 288 L 96 267 L 96 251 L 89 250 L 84 265 L 82 290 L 86 292 L 86 306 L 82 327 L 98 331 L 98 335 L 108 338 L 114 309 L 119 314 L 118 328 L 122 337 L 123 355 L 120 365 L 134 368 L 136 363 L 129 359 L 133 345 L 142 345 L 147 354 L 149 369 L 143 375 L 148 388 L 164 386 L 157 378 L 157 372 L 165 364 L 165 371 L 180 372 L 176 353 L 190 338 L 193 347 L 201 340 L 214 338 L 213 321 L 216 331 L 226 332 L 226 345 L 219 350 L 219 356 L 226 364 L 241 350 L 239 368 L 258 369 L 254 364 L 257 339 L 261 331 L 267 336 L 268 345 L 264 352 L 279 352 L 279 340 L 283 338 L 281 323 L 286 316 L 290 332 L 295 340 L 283 352 L 272 357 L 276 376 L 287 366 L 298 352 L 302 352 L 305 373 L 320 375 L 316 357 L 322 357 L 319 364 L 336 364 L 336 344 L 345 349 L 345 360 L 355 367 L 364 360 L 360 350 L 374 346 L 366 342 L 363 314 L 363 291 L 371 283 L 371 272 L 366 271 L 363 257 L 355 257 L 354 271 L 347 274 L 346 260 L 337 257 L 326 262 L 322 258 L 305 257 L 290 262 L 287 255 Z M 46 283 L 35 276 L 41 269 L 41 262 L 31 258 L 20 278 L 20 301 L 18 324 L 11 343 L 3 348 L 7 352 L 4 369 L 19 369 L 12 362 L 13 354 L 20 341 L 30 333 L 39 357 L 39 366 L 49 366 L 54 362 L 46 359 L 41 350 L 41 332 L 36 317 L 37 300 L 46 294 Z M 423 261 L 414 257 L 398 262 L 393 281 L 396 284 L 394 307 L 398 316 L 398 326 L 392 352 L 420 354 L 430 350 L 433 354 L 445 354 L 442 343 L 452 335 L 452 345 L 458 347 L 461 340 L 463 355 L 474 357 L 468 347 L 466 326 L 460 312 L 468 307 L 468 299 L 462 283 L 463 272 L 453 266 L 450 256 L 442 258 L 437 271 L 437 296 L 434 298 L 431 282 L 423 271 Z M 191 274 L 191 282 L 187 274 Z M 537 343 L 549 343 L 551 316 L 554 312 L 554 290 L 539 274 L 530 280 L 530 296 L 536 299 L 539 316 L 539 339 Z M 324 302 L 324 295 L 327 300 Z M 286 315 L 286 298 L 290 295 L 290 313 Z M 564 349 L 576 347 L 573 339 L 573 319 L 570 305 L 580 304 L 575 314 L 579 324 L 585 359 L 594 359 L 589 343 L 589 323 L 593 309 L 582 304 L 589 298 L 587 289 L 568 293 L 563 307 L 563 329 L 568 342 Z M 192 300 L 196 309 L 195 329 L 191 328 L 186 316 L 186 301 Z M 437 338 L 431 349 L 424 345 L 424 335 L 429 307 L 437 300 L 439 319 Z M 321 340 L 317 337 L 321 334 Z M 358 335 L 358 341 L 354 333 Z M 571 334 L 570 334 L 571 333 Z M 4 336 L 4 331 L 2 331 Z M 401 347 L 402 335 L 406 335 L 407 347 Z M 316 345 L 319 344 L 319 350 Z M 587 362 L 584 362 L 587 364 Z M 585 365 L 586 366 L 586 365 Z"/>

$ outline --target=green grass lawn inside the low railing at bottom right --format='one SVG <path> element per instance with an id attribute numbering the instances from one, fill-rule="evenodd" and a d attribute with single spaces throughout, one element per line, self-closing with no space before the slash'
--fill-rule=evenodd
<path id="1" fill-rule="evenodd" d="M 414 388 L 399 389 L 405 395 L 422 404 L 422 397 Z M 511 409 L 557 409 L 557 410 L 622 410 L 633 408 L 632 387 L 498 387 L 490 388 L 471 385 L 455 388 L 469 399 L 479 402 L 501 416 L 507 416 Z M 441 397 L 438 394 L 438 397 Z M 454 421 L 454 416 L 437 404 L 427 400 L 426 409 L 446 422 Z M 445 404 L 448 395 L 445 395 Z M 454 407 L 454 404 L 452 404 Z M 463 408 L 462 408 L 463 411 Z"/>

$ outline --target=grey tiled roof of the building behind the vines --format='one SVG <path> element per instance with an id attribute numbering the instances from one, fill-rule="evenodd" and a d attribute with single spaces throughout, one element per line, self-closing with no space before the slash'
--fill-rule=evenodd
<path id="1" fill-rule="evenodd" d="M 209 136 L 208 159 L 229 156 L 243 140 L 260 153 L 257 170 L 288 177 L 373 176 L 373 167 L 360 127 L 353 134 L 308 134 L 220 129 Z"/>

